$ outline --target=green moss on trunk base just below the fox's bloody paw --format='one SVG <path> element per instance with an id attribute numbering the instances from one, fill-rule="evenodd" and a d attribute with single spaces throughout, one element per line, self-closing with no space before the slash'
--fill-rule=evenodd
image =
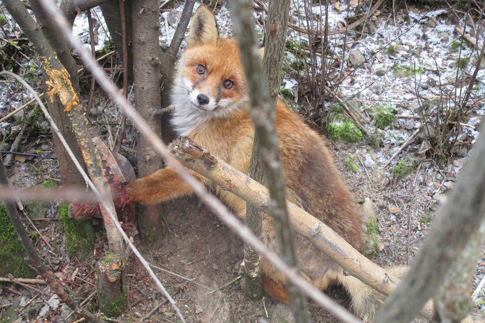
<path id="1" fill-rule="evenodd" d="M 63 203 L 59 215 L 64 223 L 66 246 L 69 257 L 88 261 L 94 249 L 94 230 L 88 221 L 77 221 L 67 215 L 68 206 Z"/>

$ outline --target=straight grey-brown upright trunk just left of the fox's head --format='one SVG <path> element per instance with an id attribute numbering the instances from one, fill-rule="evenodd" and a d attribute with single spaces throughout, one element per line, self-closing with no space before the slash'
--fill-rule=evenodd
<path id="1" fill-rule="evenodd" d="M 159 5 L 157 0 L 132 0 L 133 21 L 133 76 L 135 105 L 150 128 L 161 135 L 160 116 L 153 111 L 160 107 L 159 62 Z M 139 132 L 137 131 L 139 134 Z M 137 136 L 138 176 L 147 176 L 162 168 L 162 158 L 155 154 L 148 140 Z M 147 241 L 158 241 L 162 233 L 160 205 L 143 206 L 140 228 Z"/>

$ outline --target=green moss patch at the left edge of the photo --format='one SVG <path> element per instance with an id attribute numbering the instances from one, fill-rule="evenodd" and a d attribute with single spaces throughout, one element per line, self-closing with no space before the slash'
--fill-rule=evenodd
<path id="1" fill-rule="evenodd" d="M 14 277 L 28 278 L 31 276 L 29 264 L 24 260 L 27 256 L 24 246 L 17 237 L 17 233 L 10 221 L 7 209 L 0 204 L 0 275 L 8 273 Z"/>

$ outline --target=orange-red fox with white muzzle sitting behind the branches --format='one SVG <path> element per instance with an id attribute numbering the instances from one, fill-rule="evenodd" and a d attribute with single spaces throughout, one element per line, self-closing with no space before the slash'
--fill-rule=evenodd
<path id="1" fill-rule="evenodd" d="M 246 172 L 254 126 L 244 110 L 250 101 L 239 46 L 234 38 L 218 36 L 215 17 L 204 5 L 198 7 L 192 19 L 187 46 L 178 61 L 172 101 L 172 124 L 178 135 L 188 136 L 235 169 Z M 288 199 L 360 250 L 361 215 L 323 138 L 280 99 L 276 106 L 276 131 Z M 211 185 L 209 180 L 192 173 Z M 214 189 L 240 218 L 245 218 L 245 201 L 219 187 Z M 149 204 L 190 194 L 192 190 L 168 166 L 129 183 L 126 192 L 131 200 Z M 268 215 L 263 215 L 261 238 L 277 252 Z M 298 236 L 296 241 L 303 275 L 321 290 L 331 282 L 341 283 L 351 294 L 356 315 L 369 321 L 384 296 L 372 292 L 355 277 L 344 276 L 337 263 L 307 240 Z M 261 269 L 266 291 L 288 303 L 284 276 L 265 259 L 261 260 Z M 397 268 L 392 274 L 401 276 L 403 271 Z"/>

